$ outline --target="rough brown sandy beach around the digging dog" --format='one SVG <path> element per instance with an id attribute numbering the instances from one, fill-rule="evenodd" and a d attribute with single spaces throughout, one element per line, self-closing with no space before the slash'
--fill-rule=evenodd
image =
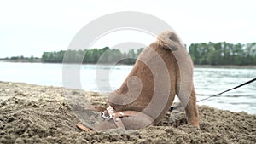
<path id="1" fill-rule="evenodd" d="M 256 116 L 200 106 L 200 128 L 185 114 L 167 112 L 157 126 L 142 130 L 84 132 L 76 128 L 64 95 L 107 106 L 106 95 L 75 89 L 0 82 L 0 143 L 255 143 Z M 81 101 L 83 102 L 83 101 Z"/>

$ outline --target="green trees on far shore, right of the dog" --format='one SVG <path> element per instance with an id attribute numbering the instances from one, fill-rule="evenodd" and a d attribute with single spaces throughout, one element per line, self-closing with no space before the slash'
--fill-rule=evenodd
<path id="1" fill-rule="evenodd" d="M 189 54 L 195 65 L 256 65 L 256 43 L 195 43 Z"/>

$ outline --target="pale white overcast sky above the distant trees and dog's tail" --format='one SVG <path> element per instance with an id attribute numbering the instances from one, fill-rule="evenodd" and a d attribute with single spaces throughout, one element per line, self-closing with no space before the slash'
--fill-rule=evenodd
<path id="1" fill-rule="evenodd" d="M 187 44 L 252 43 L 256 42 L 255 6 L 253 0 L 0 0 L 0 58 L 41 57 L 44 51 L 65 50 L 90 21 L 120 11 L 138 11 L 165 20 Z M 124 33 L 126 37 L 120 37 Z M 153 39 L 117 32 L 102 37 L 93 47 L 111 47 L 119 44 L 114 39 L 121 38 L 146 45 Z"/>

